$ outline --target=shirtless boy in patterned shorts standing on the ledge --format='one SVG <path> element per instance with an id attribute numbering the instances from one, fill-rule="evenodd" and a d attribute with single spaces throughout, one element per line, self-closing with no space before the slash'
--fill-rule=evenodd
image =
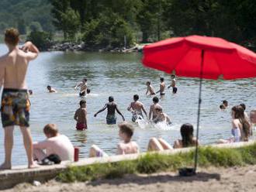
<path id="1" fill-rule="evenodd" d="M 5 31 L 5 44 L 9 52 L 0 57 L 0 82 L 3 82 L 1 116 L 5 129 L 5 162 L 0 170 L 12 168 L 11 156 L 14 125 L 19 125 L 23 135 L 28 159 L 28 167 L 33 168 L 33 142 L 29 130 L 29 94 L 26 85 L 26 70 L 30 60 L 36 59 L 39 50 L 31 42 L 26 42 L 22 50 L 18 47 L 17 29 Z"/>

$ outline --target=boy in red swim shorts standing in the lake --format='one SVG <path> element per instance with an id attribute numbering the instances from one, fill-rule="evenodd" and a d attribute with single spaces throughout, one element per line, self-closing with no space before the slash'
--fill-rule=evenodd
<path id="1" fill-rule="evenodd" d="M 79 131 L 83 131 L 87 129 L 87 111 L 86 111 L 86 101 L 81 100 L 80 108 L 78 108 L 77 111 L 74 113 L 74 120 L 77 121 L 76 129 Z"/>

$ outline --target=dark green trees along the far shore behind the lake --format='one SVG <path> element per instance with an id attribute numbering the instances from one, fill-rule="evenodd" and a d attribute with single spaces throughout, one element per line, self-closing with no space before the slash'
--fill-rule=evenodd
<path id="1" fill-rule="evenodd" d="M 127 46 L 170 36 L 220 36 L 255 46 L 254 0 L 50 0 L 54 26 L 88 46 Z"/>

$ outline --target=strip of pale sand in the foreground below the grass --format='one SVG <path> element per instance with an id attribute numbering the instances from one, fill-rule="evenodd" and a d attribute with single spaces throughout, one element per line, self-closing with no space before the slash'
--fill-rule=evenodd
<path id="1" fill-rule="evenodd" d="M 116 180 L 97 180 L 85 183 L 58 183 L 50 180 L 36 187 L 22 183 L 5 192 L 26 191 L 255 191 L 256 166 L 199 169 L 195 177 L 178 177 L 177 173 L 130 175 Z"/>

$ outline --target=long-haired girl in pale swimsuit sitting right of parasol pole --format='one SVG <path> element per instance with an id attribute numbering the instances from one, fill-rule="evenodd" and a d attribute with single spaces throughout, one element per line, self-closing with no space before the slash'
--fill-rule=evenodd
<path id="1" fill-rule="evenodd" d="M 251 125 L 244 118 L 244 108 L 240 105 L 236 105 L 232 108 L 232 129 L 231 134 L 233 135 L 230 139 L 220 139 L 218 143 L 227 142 L 247 142 L 251 135 Z"/>

